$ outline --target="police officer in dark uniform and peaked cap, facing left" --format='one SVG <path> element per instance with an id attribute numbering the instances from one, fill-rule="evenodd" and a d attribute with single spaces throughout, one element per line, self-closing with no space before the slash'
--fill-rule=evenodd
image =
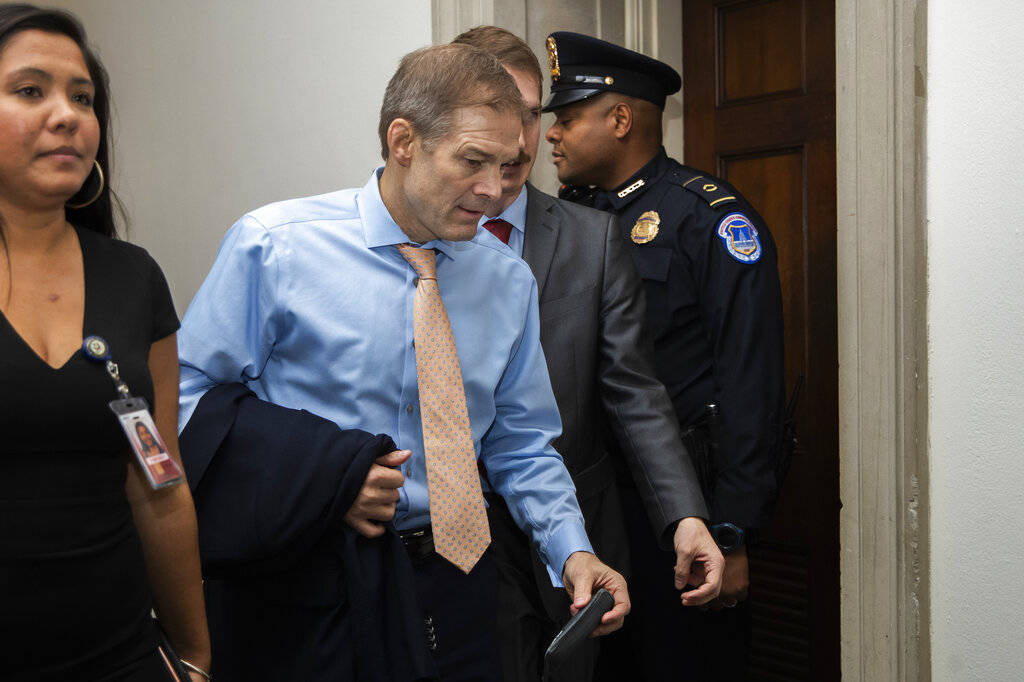
<path id="1" fill-rule="evenodd" d="M 746 546 L 770 518 L 783 468 L 775 244 L 735 187 L 666 155 L 662 114 L 681 85 L 675 70 L 574 33 L 552 34 L 547 47 L 544 111 L 556 118 L 546 136 L 565 183 L 560 196 L 620 216 L 644 282 L 655 371 L 726 554 L 711 610 L 682 607 L 662 580 L 673 557 L 657 548 L 627 491 L 633 614 L 603 645 L 598 669 L 609 680 L 744 679 Z"/>

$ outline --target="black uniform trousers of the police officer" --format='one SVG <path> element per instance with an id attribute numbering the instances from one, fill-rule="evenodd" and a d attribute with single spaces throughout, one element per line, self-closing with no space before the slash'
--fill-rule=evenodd
<path id="1" fill-rule="evenodd" d="M 658 548 L 636 491 L 623 491 L 623 508 L 632 530 L 633 609 L 622 630 L 603 638 L 595 680 L 745 680 L 748 602 L 717 612 L 683 606 L 672 580 L 676 558 Z"/>

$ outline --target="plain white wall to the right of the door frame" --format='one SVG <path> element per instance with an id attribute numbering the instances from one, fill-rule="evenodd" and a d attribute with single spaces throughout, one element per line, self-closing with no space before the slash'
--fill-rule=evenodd
<path id="1" fill-rule="evenodd" d="M 1024 11 L 928 2 L 932 672 L 1024 679 Z"/>

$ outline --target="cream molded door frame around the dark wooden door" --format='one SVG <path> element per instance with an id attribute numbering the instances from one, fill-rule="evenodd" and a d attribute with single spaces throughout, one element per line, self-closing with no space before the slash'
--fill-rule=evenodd
<path id="1" fill-rule="evenodd" d="M 813 0 L 805 0 L 813 1 Z M 531 0 L 551 5 L 565 0 Z M 577 0 L 598 17 L 608 0 Z M 496 12 L 496 8 L 498 11 Z M 679 0 L 625 0 L 626 47 L 682 58 Z M 836 0 L 840 600 L 845 680 L 931 679 L 927 0 Z M 434 41 L 522 33 L 526 0 L 432 0 Z M 508 20 L 503 19 L 510 17 Z M 600 26 L 600 24 L 598 24 Z M 557 29 L 557 27 L 553 27 Z M 813 27 L 808 27 L 813 29 Z M 683 158 L 681 121 L 666 146 Z"/>

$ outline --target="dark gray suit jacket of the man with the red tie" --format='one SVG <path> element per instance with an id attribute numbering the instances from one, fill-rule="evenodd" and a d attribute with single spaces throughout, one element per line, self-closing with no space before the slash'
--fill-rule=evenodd
<path id="1" fill-rule="evenodd" d="M 601 504 L 616 457 L 629 466 L 655 535 L 671 547 L 666 536 L 675 521 L 708 511 L 676 413 L 648 360 L 643 288 L 618 222 L 528 184 L 526 191 L 523 259 L 537 279 L 541 345 L 562 417 L 554 444 L 575 481 L 595 550 L 608 560 L 626 550 L 621 519 Z"/>

